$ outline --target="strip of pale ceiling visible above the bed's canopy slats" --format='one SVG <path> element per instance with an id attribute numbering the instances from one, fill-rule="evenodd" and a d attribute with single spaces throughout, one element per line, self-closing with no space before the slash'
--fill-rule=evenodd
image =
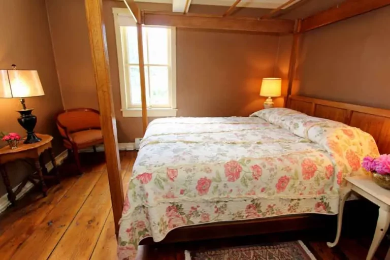
<path id="1" fill-rule="evenodd" d="M 185 0 L 135 0 L 136 2 L 149 2 L 149 3 L 166 3 L 175 4 L 174 2 L 184 2 Z M 277 8 L 281 4 L 284 4 L 287 0 L 242 0 L 238 7 L 251 7 L 251 8 Z M 209 6 L 231 6 L 235 0 L 191 0 L 192 5 L 209 5 Z M 181 4 L 181 3 L 180 3 Z"/>

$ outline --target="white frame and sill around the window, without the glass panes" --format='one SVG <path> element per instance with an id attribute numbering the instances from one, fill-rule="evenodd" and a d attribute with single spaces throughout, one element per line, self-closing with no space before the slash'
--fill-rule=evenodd
<path id="1" fill-rule="evenodd" d="M 121 111 L 123 117 L 141 117 L 142 110 L 140 107 L 131 107 L 127 104 L 127 100 L 130 99 L 130 94 L 128 93 L 128 88 L 126 88 L 126 77 L 125 77 L 125 64 L 123 60 L 123 39 L 121 37 L 120 24 L 128 24 L 128 26 L 135 26 L 136 21 L 129 13 L 126 8 L 113 8 L 112 13 L 114 15 L 114 25 L 115 25 L 115 37 L 116 37 L 116 49 L 118 54 L 118 67 L 119 67 L 119 84 L 120 84 L 120 100 L 121 100 Z M 122 25 L 123 26 L 123 25 Z M 163 26 L 167 27 L 167 26 Z M 167 108 L 147 108 L 147 114 L 150 117 L 166 117 L 166 116 L 176 116 L 177 114 L 177 104 L 176 104 L 176 28 L 171 28 L 171 74 L 169 75 L 169 93 L 170 93 L 170 107 Z M 127 83 L 128 84 L 128 83 Z"/>

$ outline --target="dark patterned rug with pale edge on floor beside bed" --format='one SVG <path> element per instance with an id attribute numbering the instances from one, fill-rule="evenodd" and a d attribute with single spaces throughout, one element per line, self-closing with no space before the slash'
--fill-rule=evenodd
<path id="1" fill-rule="evenodd" d="M 209 251 L 185 251 L 185 260 L 316 260 L 305 244 L 293 242 L 232 247 Z"/>

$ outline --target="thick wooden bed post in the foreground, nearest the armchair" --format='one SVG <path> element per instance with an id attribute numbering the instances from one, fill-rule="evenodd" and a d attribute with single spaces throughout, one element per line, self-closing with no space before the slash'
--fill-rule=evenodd
<path id="1" fill-rule="evenodd" d="M 105 24 L 103 21 L 102 0 L 85 0 L 85 13 L 88 24 L 89 45 L 95 74 L 96 90 L 104 136 L 107 173 L 110 184 L 112 211 L 114 213 L 115 233 L 118 236 L 119 219 L 123 209 L 123 188 L 120 178 L 120 160 L 116 120 L 110 81 L 110 66 Z"/>

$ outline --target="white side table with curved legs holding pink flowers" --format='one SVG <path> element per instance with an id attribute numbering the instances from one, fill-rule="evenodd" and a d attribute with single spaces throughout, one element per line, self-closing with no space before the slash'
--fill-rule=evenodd
<path id="1" fill-rule="evenodd" d="M 376 223 L 374 238 L 366 258 L 367 260 L 371 260 L 380 242 L 382 241 L 382 238 L 386 234 L 388 225 L 390 223 L 390 190 L 379 187 L 374 183 L 371 177 L 367 176 L 353 176 L 346 177 L 345 179 L 347 180 L 348 184 L 345 188 L 340 190 L 340 206 L 337 221 L 336 239 L 335 242 L 328 242 L 327 244 L 329 247 L 334 247 L 339 242 L 344 204 L 346 199 L 349 197 L 350 192 L 353 190 L 379 206 L 379 216 Z M 387 252 L 385 260 L 390 260 L 390 250 Z"/>

